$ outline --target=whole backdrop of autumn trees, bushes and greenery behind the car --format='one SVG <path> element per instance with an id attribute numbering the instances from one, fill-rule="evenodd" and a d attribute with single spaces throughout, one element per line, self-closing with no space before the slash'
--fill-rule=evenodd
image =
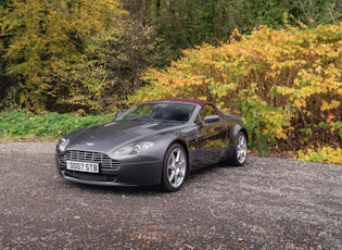
<path id="1" fill-rule="evenodd" d="M 241 115 L 261 154 L 342 163 L 341 22 L 339 0 L 1 0 L 0 136 L 190 97 Z"/>

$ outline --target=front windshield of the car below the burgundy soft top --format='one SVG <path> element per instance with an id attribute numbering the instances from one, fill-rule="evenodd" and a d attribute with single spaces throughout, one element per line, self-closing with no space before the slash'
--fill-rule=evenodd
<path id="1" fill-rule="evenodd" d="M 124 113 L 118 115 L 115 121 L 161 120 L 188 122 L 194 108 L 194 104 L 188 103 L 143 103 L 125 111 Z"/>

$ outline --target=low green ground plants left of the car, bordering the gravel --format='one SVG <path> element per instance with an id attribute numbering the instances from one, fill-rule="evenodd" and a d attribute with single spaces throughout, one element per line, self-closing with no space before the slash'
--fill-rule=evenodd
<path id="1" fill-rule="evenodd" d="M 113 114 L 76 116 L 72 113 L 37 115 L 25 111 L 0 112 L 0 141 L 53 141 L 73 130 L 105 123 Z"/>

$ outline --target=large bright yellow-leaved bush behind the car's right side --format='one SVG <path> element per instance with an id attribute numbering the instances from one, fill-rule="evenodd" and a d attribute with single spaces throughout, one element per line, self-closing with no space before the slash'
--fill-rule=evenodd
<path id="1" fill-rule="evenodd" d="M 168 97 L 202 98 L 240 113 L 252 143 L 281 142 L 300 149 L 314 141 L 341 145 L 342 24 L 275 30 L 238 30 L 219 47 L 203 45 L 163 71 L 131 102 Z M 304 133 L 303 132 L 311 132 Z"/>

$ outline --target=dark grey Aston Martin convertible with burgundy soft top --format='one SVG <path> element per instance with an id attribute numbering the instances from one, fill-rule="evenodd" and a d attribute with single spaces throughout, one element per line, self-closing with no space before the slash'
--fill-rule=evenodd
<path id="1" fill-rule="evenodd" d="M 248 133 L 213 103 L 166 99 L 135 105 L 106 124 L 60 139 L 55 161 L 67 180 L 103 186 L 162 185 L 178 190 L 206 166 L 243 165 Z"/>

